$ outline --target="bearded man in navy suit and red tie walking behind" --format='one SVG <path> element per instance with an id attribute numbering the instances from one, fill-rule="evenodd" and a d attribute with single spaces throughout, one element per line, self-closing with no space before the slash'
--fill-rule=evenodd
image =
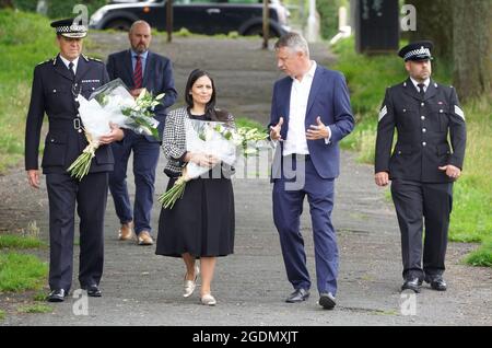
<path id="1" fill-rule="evenodd" d="M 161 105 L 155 107 L 155 119 L 160 121 L 162 138 L 166 109 L 176 101 L 171 60 L 149 50 L 151 27 L 144 21 L 131 25 L 128 34 L 131 48 L 108 57 L 109 78 L 120 78 L 137 97 L 142 89 L 154 95 L 165 93 Z M 139 245 L 151 245 L 151 212 L 154 195 L 155 167 L 159 161 L 161 139 L 126 131 L 124 141 L 113 144 L 115 171 L 109 176 L 109 189 L 115 201 L 116 213 L 121 223 L 119 239 L 132 239 L 137 232 Z M 133 211 L 127 188 L 127 165 L 133 151 L 133 174 L 136 184 Z"/>

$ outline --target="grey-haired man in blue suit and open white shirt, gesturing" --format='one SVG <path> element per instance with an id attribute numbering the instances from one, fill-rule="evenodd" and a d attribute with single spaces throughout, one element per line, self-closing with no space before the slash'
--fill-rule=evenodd
<path id="1" fill-rule="evenodd" d="M 338 142 L 354 127 L 344 78 L 309 59 L 306 40 L 296 33 L 276 44 L 278 67 L 289 77 L 276 82 L 270 138 L 277 142 L 272 163 L 273 220 L 289 281 L 294 292 L 286 302 L 309 297 L 300 217 L 307 195 L 315 244 L 319 304 L 336 305 L 338 247 L 331 211 L 333 181 L 339 175 Z"/>

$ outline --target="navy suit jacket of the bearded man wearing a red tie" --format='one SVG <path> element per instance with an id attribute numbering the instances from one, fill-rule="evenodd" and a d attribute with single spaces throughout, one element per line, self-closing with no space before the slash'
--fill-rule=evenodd
<path id="1" fill-rule="evenodd" d="M 149 51 L 145 67 L 143 67 L 142 86 L 153 95 L 165 93 L 161 105 L 154 109 L 155 119 L 159 120 L 159 134 L 162 139 L 167 107 L 174 104 L 177 92 L 174 89 L 173 65 L 166 57 Z M 107 58 L 107 72 L 110 80 L 120 78 L 129 89 L 134 88 L 133 68 L 131 66 L 131 50 L 122 50 L 109 55 Z M 152 136 L 143 136 L 149 141 L 160 141 Z"/>

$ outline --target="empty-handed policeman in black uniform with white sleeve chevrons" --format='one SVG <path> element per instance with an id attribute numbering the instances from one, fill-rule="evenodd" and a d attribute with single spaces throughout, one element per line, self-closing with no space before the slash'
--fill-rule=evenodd
<path id="1" fill-rule="evenodd" d="M 386 90 L 377 125 L 375 181 L 386 186 L 391 179 L 401 232 L 401 290 L 414 292 L 420 292 L 423 280 L 434 290 L 446 290 L 443 272 L 453 183 L 461 174 L 466 144 L 465 115 L 455 89 L 431 79 L 432 48 L 431 42 L 418 42 L 400 49 L 409 78 Z M 395 129 L 398 138 L 391 153 Z"/>

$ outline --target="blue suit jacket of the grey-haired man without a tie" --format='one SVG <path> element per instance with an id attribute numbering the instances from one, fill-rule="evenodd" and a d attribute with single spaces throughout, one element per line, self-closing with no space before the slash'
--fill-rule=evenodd
<path id="1" fill-rule="evenodd" d="M 281 128 L 282 139 L 289 137 L 289 112 L 292 89 L 292 78 L 285 77 L 276 82 L 270 113 L 270 126 L 277 125 L 283 117 Z M 349 135 L 354 127 L 354 118 L 350 106 L 349 91 L 343 76 L 338 71 L 328 70 L 317 66 L 307 100 L 306 117 L 304 126 L 306 130 L 311 125 L 316 125 L 316 118 L 320 116 L 324 125 L 331 130 L 329 143 L 325 139 L 307 140 L 307 148 L 312 162 L 323 178 L 335 178 L 340 173 L 340 150 L 338 142 Z M 272 164 L 272 178 L 280 177 L 281 154 L 277 149 Z"/>

